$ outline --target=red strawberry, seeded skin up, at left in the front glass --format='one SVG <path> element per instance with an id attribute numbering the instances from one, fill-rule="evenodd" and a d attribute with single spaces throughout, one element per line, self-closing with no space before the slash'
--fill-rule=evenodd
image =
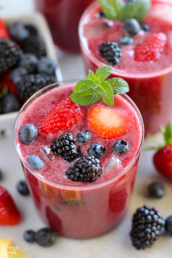
<path id="1" fill-rule="evenodd" d="M 40 133 L 54 134 L 75 124 L 83 115 L 83 107 L 74 103 L 71 98 L 60 100 L 41 122 Z"/>

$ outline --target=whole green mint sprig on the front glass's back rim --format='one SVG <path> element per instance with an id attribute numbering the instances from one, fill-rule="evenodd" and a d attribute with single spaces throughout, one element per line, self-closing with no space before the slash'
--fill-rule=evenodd
<path id="1" fill-rule="evenodd" d="M 75 85 L 71 99 L 75 103 L 85 106 L 102 97 L 107 105 L 112 106 L 115 94 L 129 91 L 128 83 L 122 78 L 112 78 L 105 81 L 113 71 L 114 68 L 109 65 L 98 68 L 95 74 L 89 70 L 89 75 Z"/>

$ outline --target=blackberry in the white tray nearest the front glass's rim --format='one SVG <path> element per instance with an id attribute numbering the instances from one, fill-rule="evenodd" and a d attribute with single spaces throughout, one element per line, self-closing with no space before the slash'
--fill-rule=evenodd
<path id="1" fill-rule="evenodd" d="M 23 79 L 17 84 L 18 95 L 26 101 L 36 91 L 56 82 L 54 75 L 30 74 L 24 75 Z"/>

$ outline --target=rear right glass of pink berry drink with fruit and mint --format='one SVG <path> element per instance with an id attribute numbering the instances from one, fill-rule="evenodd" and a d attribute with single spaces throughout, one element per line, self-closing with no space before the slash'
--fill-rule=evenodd
<path id="1" fill-rule="evenodd" d="M 128 82 L 128 95 L 142 114 L 145 133 L 155 133 L 172 113 L 172 3 L 119 0 L 116 14 L 109 0 L 97 1 L 104 12 L 94 2 L 79 25 L 86 70 L 113 65 L 111 76 Z"/>

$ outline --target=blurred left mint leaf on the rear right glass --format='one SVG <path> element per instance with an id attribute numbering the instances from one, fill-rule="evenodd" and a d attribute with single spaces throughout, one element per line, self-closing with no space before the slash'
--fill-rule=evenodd
<path id="1" fill-rule="evenodd" d="M 122 0 L 97 0 L 97 2 L 103 9 L 106 17 L 111 20 L 117 19 L 124 7 Z"/>

